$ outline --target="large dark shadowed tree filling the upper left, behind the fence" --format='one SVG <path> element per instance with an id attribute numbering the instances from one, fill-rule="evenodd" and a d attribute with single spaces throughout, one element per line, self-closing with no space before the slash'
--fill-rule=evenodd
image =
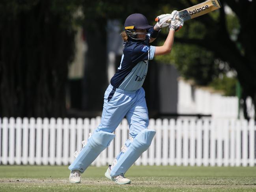
<path id="1" fill-rule="evenodd" d="M 1 1 L 0 116 L 65 116 L 77 3 Z"/>

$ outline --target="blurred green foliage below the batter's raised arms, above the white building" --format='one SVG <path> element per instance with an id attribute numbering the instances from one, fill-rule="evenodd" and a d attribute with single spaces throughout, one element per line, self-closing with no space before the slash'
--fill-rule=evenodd
<path id="1" fill-rule="evenodd" d="M 206 86 L 219 74 L 213 52 L 197 45 L 176 43 L 171 54 L 159 56 L 157 60 L 174 63 L 181 76 L 193 79 L 198 85 Z"/>

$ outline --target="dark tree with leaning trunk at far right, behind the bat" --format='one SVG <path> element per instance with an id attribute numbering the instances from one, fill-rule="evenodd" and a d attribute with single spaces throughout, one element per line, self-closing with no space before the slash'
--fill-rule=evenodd
<path id="1" fill-rule="evenodd" d="M 164 5 L 166 1 L 161 2 Z M 174 9 L 181 10 L 200 2 L 183 0 L 172 4 L 175 6 Z M 207 51 L 210 51 L 214 58 L 219 60 L 219 63 L 226 63 L 229 69 L 235 70 L 237 79 L 243 88 L 243 99 L 247 96 L 252 97 L 254 106 L 256 106 L 256 76 L 254 75 L 256 74 L 256 51 L 254 48 L 256 30 L 251 26 L 256 22 L 253 13 L 256 1 L 220 0 L 220 2 L 222 8 L 218 11 L 185 22 L 181 34 L 177 34 L 175 42 L 202 47 L 205 51 L 201 52 L 200 59 L 209 54 Z M 224 6 L 229 6 L 234 15 L 227 15 Z M 183 55 L 186 56 L 188 52 L 183 51 Z M 189 58 L 188 55 L 186 57 Z M 209 57 L 209 60 L 212 60 L 211 58 Z M 210 67 L 214 65 L 214 60 L 210 62 L 211 64 L 206 63 L 209 64 L 208 70 L 214 69 L 214 67 Z M 178 64 L 182 65 L 183 63 Z M 193 69 L 189 68 L 189 70 Z M 196 76 L 194 77 L 196 78 Z"/>

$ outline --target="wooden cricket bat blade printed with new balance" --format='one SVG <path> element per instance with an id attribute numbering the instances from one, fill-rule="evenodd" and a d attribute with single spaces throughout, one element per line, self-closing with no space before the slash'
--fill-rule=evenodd
<path id="1" fill-rule="evenodd" d="M 179 19 L 187 21 L 189 19 L 194 19 L 216 9 L 219 9 L 221 4 L 219 0 L 207 0 L 206 2 L 197 4 L 195 6 L 189 7 L 182 11 L 178 11 Z M 177 18 L 178 19 L 178 18 Z"/>

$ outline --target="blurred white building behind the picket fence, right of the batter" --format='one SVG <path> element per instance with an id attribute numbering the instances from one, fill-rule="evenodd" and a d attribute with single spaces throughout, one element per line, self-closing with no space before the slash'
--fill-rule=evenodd
<path id="1" fill-rule="evenodd" d="M 211 115 L 213 118 L 237 118 L 237 97 L 223 96 L 208 87 L 194 86 L 191 82 L 178 79 L 178 114 Z"/>

